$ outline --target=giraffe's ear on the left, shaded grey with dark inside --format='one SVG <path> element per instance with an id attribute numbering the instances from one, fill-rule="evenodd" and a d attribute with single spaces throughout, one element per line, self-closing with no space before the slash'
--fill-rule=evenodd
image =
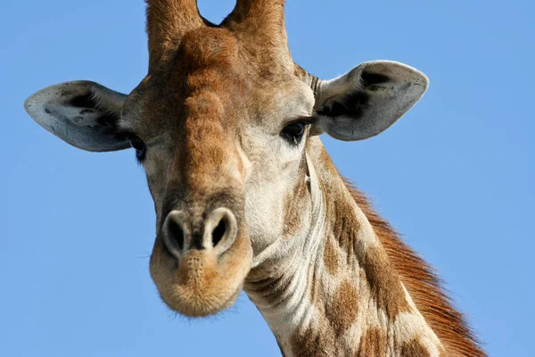
<path id="1" fill-rule="evenodd" d="M 70 145 L 93 152 L 128 148 L 117 130 L 127 95 L 95 82 L 74 81 L 41 89 L 24 103 L 37 123 Z"/>

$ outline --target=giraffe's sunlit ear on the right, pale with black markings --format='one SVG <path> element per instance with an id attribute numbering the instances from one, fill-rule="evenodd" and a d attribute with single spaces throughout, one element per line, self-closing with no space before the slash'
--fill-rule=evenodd
<path id="1" fill-rule="evenodd" d="M 424 95 L 429 79 L 406 64 L 364 62 L 317 88 L 314 132 L 363 140 L 391 127 Z"/>

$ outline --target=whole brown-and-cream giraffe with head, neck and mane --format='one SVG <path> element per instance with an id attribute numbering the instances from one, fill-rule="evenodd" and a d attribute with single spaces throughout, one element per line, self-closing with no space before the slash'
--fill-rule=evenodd
<path id="1" fill-rule="evenodd" d="M 363 140 L 424 95 L 425 75 L 365 62 L 331 80 L 292 61 L 284 0 L 146 0 L 149 69 L 129 94 L 91 81 L 25 102 L 92 152 L 134 148 L 157 216 L 150 272 L 191 317 L 243 290 L 284 356 L 484 356 L 440 280 L 343 179 L 320 135 Z"/>

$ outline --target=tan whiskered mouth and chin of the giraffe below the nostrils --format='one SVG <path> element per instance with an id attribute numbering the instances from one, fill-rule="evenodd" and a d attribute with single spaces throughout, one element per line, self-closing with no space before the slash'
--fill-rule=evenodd
<path id="1" fill-rule="evenodd" d="M 157 239 L 151 258 L 151 276 L 161 299 L 170 309 L 188 317 L 204 317 L 230 307 L 242 291 L 251 270 L 249 238 L 238 238 L 226 253 L 192 250 L 178 262 Z"/>

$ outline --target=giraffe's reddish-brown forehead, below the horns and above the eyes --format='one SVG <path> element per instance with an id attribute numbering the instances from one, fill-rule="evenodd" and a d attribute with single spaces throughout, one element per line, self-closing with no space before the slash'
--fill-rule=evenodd
<path id="1" fill-rule="evenodd" d="M 257 52 L 227 29 L 188 32 L 167 62 L 136 87 L 123 112 L 141 112 L 130 123 L 152 131 L 150 136 L 192 114 L 195 120 L 224 118 L 227 127 L 246 120 L 270 125 L 284 116 L 309 114 L 314 105 L 309 87 Z M 128 116 L 122 121 L 128 123 Z"/>

